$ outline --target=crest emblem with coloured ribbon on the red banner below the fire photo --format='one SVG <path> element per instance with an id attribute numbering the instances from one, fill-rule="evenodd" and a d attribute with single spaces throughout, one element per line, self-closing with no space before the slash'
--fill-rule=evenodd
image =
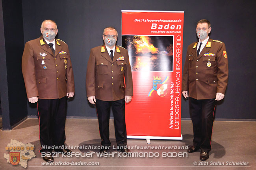
<path id="1" fill-rule="evenodd" d="M 157 94 L 160 97 L 165 96 L 167 94 L 167 84 L 165 84 L 165 83 L 167 82 L 168 79 L 169 79 L 169 76 L 166 76 L 162 82 L 161 77 L 154 76 L 153 77 L 153 88 L 149 91 L 148 96 L 151 96 L 153 91 L 157 91 Z"/>

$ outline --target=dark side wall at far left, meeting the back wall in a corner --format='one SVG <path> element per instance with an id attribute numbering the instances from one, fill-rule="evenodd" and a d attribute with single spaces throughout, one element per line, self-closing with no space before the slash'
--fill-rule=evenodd
<path id="1" fill-rule="evenodd" d="M 1 8 L 1 111 L 3 130 L 7 130 L 28 115 L 20 59 L 24 49 L 22 1 L 3 0 Z"/>

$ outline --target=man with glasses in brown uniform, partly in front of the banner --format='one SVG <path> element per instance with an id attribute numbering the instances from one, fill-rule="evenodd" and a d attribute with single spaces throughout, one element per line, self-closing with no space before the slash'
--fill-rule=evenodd
<path id="1" fill-rule="evenodd" d="M 86 73 L 86 91 L 91 104 L 96 102 L 101 141 L 100 152 L 108 151 L 109 114 L 113 110 L 117 150 L 128 154 L 126 149 L 125 102 L 132 100 L 132 71 L 128 51 L 115 46 L 117 31 L 107 27 L 103 31 L 105 45 L 91 49 Z M 124 84 L 125 78 L 125 84 Z"/>

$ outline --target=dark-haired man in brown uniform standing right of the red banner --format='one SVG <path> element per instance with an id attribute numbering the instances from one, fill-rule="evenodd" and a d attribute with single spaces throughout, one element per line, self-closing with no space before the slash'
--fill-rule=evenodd
<path id="1" fill-rule="evenodd" d="M 200 160 L 209 158 L 215 101 L 223 99 L 228 83 L 228 58 L 225 44 L 208 37 L 211 24 L 197 23 L 198 42 L 187 48 L 182 77 L 182 94 L 187 99 L 193 122 L 193 146 L 187 152 L 201 149 Z"/>

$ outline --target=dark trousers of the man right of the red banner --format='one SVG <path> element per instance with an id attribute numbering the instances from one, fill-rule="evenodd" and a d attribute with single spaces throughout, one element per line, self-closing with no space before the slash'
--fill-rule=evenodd
<path id="1" fill-rule="evenodd" d="M 193 143 L 204 152 L 211 150 L 214 109 L 215 99 L 197 100 L 189 97 L 189 112 L 194 131 Z"/>

